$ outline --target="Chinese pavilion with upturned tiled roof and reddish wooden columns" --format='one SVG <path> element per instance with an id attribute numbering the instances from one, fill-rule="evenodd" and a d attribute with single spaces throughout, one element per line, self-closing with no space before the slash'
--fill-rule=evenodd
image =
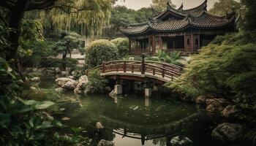
<path id="1" fill-rule="evenodd" d="M 197 53 L 217 35 L 236 31 L 235 12 L 217 16 L 207 12 L 206 8 L 207 0 L 192 9 L 183 9 L 183 4 L 174 9 L 169 3 L 164 12 L 152 7 L 151 20 L 121 29 L 129 37 L 129 53 L 155 53 L 156 50 Z"/>

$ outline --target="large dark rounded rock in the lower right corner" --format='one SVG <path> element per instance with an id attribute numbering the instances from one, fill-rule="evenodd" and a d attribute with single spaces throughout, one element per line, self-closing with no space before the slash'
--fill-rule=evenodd
<path id="1" fill-rule="evenodd" d="M 214 142 L 219 144 L 234 143 L 243 137 L 243 126 L 237 123 L 222 123 L 211 132 Z"/>

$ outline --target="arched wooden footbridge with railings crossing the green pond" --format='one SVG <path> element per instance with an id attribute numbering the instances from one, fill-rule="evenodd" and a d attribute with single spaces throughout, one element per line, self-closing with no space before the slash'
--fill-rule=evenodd
<path id="1" fill-rule="evenodd" d="M 174 64 L 145 61 L 143 59 L 142 61 L 118 60 L 103 62 L 102 65 L 94 69 L 99 69 L 102 77 L 110 79 L 149 80 L 164 84 L 165 82 L 176 80 L 183 68 Z"/>

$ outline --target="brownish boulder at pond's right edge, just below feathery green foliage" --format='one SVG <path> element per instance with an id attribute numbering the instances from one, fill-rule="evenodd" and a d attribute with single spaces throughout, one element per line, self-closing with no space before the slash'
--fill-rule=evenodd
<path id="1" fill-rule="evenodd" d="M 207 112 L 220 112 L 229 102 L 226 99 L 206 99 Z"/>

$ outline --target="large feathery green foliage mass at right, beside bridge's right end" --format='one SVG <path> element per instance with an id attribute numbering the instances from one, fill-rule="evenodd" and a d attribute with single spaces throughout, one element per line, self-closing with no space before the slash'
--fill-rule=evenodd
<path id="1" fill-rule="evenodd" d="M 184 74 L 170 88 L 187 96 L 223 97 L 244 111 L 241 118 L 256 122 L 256 44 L 244 32 L 217 37 L 192 57 Z M 222 42 L 220 41 L 222 39 Z"/>

